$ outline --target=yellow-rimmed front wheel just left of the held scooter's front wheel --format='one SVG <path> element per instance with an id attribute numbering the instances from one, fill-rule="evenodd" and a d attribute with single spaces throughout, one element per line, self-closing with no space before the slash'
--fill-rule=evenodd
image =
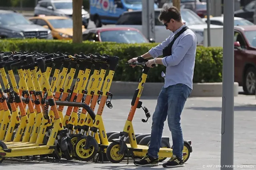
<path id="1" fill-rule="evenodd" d="M 89 149 L 83 148 L 86 144 L 86 140 L 87 140 L 86 137 L 80 138 L 74 146 L 74 151 L 76 154 L 76 158 L 78 160 L 89 161 L 92 158 L 94 158 L 98 152 L 99 146 L 96 139 L 95 138 L 91 139 Z"/>

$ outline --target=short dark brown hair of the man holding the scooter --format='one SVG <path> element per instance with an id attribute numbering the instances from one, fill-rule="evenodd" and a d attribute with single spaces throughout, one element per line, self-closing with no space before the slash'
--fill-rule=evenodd
<path id="1" fill-rule="evenodd" d="M 166 5 L 161 9 L 160 14 L 158 16 L 158 20 L 160 22 L 162 21 L 170 22 L 171 19 L 174 19 L 178 22 L 182 21 L 180 16 L 180 11 L 178 10 L 178 8 L 176 8 L 175 6 Z"/>

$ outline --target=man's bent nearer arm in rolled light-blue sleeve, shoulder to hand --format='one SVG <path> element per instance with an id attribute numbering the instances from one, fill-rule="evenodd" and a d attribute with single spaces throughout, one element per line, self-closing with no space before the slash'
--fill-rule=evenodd
<path id="1" fill-rule="evenodd" d="M 177 47 L 172 51 L 172 55 L 159 58 L 156 60 L 156 63 L 162 64 L 166 67 L 178 65 L 193 43 L 194 37 L 191 34 L 184 36 L 178 43 Z"/>

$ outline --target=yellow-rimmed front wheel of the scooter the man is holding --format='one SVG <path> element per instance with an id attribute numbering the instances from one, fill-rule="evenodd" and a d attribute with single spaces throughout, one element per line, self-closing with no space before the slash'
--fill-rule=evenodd
<path id="1" fill-rule="evenodd" d="M 124 160 L 125 155 L 124 154 L 118 154 L 118 151 L 120 151 L 120 144 L 118 142 L 112 142 L 107 150 L 106 150 L 106 156 L 108 160 L 112 163 L 119 163 Z"/>

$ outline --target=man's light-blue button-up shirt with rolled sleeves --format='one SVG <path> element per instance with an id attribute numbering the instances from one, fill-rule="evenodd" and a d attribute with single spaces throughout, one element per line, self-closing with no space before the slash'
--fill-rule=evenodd
<path id="1" fill-rule="evenodd" d="M 172 32 L 170 36 L 162 43 L 153 47 L 148 52 L 153 58 L 163 54 L 163 49 L 172 42 L 175 34 L 177 34 L 186 23 Z M 172 55 L 162 58 L 162 63 L 166 66 L 164 87 L 183 83 L 193 89 L 193 75 L 196 58 L 196 35 L 192 30 L 188 29 L 183 32 L 172 45 Z"/>

